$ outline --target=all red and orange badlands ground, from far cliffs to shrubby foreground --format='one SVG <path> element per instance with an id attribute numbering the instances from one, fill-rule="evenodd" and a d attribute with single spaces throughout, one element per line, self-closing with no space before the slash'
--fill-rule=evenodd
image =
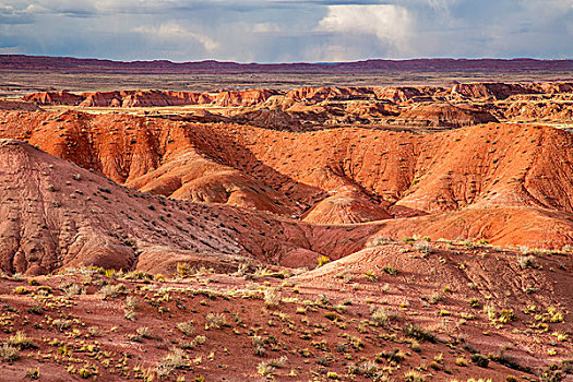
<path id="1" fill-rule="evenodd" d="M 353 368 L 368 360 L 385 377 L 415 369 L 427 381 L 568 372 L 573 135 L 504 120 L 568 116 L 568 86 L 82 96 L 82 107 L 219 110 L 169 118 L 9 105 L 16 110 L 0 111 L 0 268 L 74 270 L 27 285 L 0 275 L 2 342 L 23 331 L 38 347 L 2 363 L 4 375 L 39 367 L 44 378 L 69 380 L 89 365 L 100 380 L 143 378 L 142 368 L 160 371 L 171 345 L 184 354 L 174 380 L 263 380 L 258 363 L 279 356 L 287 360 L 272 370 L 277 380 L 294 380 L 293 369 L 295 380 L 363 381 L 368 373 Z M 32 98 L 77 102 L 65 93 Z M 468 98 L 484 102 L 461 103 Z M 482 123 L 492 116 L 503 122 Z M 362 127 L 399 128 L 401 118 L 465 127 L 428 134 Z M 203 270 L 189 277 L 193 268 Z M 104 298 L 100 287 L 117 283 L 122 297 L 142 302 L 133 321 L 127 302 Z M 85 294 L 64 296 L 70 284 Z M 287 299 L 265 307 L 256 290 L 268 286 Z M 372 317 L 379 308 L 382 321 Z M 229 325 L 205 327 L 210 312 Z M 58 319 L 71 327 L 58 331 Z M 204 346 L 181 341 L 175 325 L 188 320 Z M 408 324 L 422 331 L 408 334 Z M 105 341 L 85 330 L 92 325 Z M 140 326 L 152 327 L 152 338 L 135 337 Z M 264 354 L 253 350 L 255 335 L 266 338 Z M 487 368 L 470 361 L 475 353 L 489 357 Z"/>

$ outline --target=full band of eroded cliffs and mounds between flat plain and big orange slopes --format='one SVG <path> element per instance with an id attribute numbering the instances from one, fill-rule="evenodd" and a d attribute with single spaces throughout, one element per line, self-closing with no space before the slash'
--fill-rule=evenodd
<path id="1" fill-rule="evenodd" d="M 332 126 L 403 126 L 452 129 L 496 121 L 569 120 L 571 83 L 468 83 L 432 86 L 297 87 L 194 93 L 118 91 L 72 94 L 36 93 L 23 97 L 36 105 L 81 107 L 178 107 L 196 121 L 236 121 L 291 131 Z M 208 118 L 205 109 L 213 109 Z M 394 118 L 395 117 L 395 118 Z M 267 123 L 267 124 L 262 124 Z"/>

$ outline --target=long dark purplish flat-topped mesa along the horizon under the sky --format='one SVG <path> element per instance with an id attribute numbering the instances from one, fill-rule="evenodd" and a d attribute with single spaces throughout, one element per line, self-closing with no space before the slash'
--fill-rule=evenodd
<path id="1" fill-rule="evenodd" d="M 43 57 L 25 55 L 0 55 L 0 69 L 11 70 L 67 70 L 69 72 L 124 72 L 124 73 L 259 73 L 259 72 L 308 72 L 308 73 L 357 73 L 357 72 L 490 72 L 513 71 L 571 71 L 573 60 L 517 59 L 371 59 L 355 62 L 332 63 L 238 63 L 214 60 L 195 62 L 112 61 L 80 59 L 72 57 Z"/>

